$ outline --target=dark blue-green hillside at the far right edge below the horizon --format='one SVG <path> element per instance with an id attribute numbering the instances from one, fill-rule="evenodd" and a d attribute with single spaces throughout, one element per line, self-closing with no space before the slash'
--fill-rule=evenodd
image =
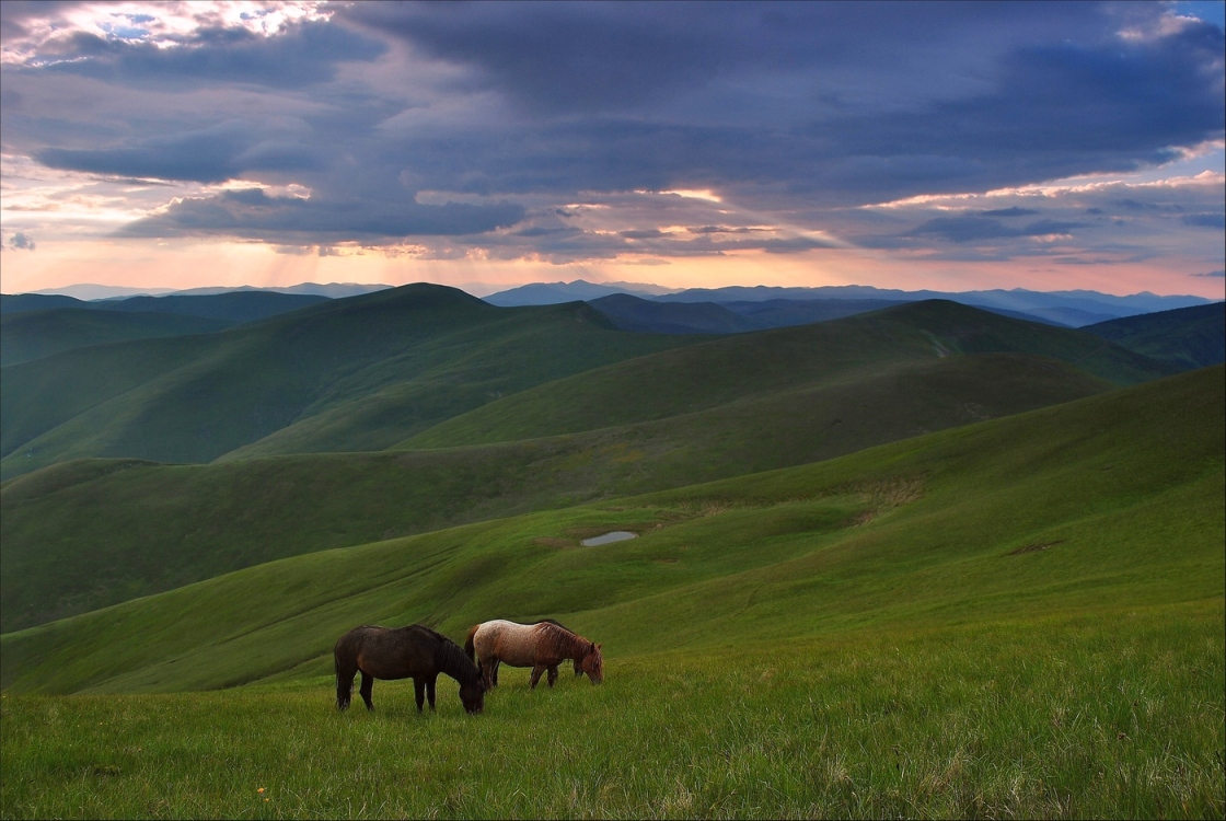
<path id="1" fill-rule="evenodd" d="M 1179 370 L 1226 361 L 1226 303 L 1125 316 L 1083 330 Z"/>

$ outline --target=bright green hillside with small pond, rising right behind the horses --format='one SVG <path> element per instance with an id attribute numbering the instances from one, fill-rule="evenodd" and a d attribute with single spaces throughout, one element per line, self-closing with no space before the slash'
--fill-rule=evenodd
<path id="1" fill-rule="evenodd" d="M 553 615 L 608 658 L 1224 596 L 1221 366 L 715 484 L 251 567 L 0 638 L 9 692 L 324 676 L 363 622 Z M 602 548 L 585 534 L 641 535 Z M 321 685 L 326 690 L 326 685 Z"/>

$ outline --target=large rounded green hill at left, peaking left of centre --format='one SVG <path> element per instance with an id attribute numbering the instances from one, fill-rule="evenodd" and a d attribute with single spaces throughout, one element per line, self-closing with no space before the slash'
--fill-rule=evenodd
<path id="1" fill-rule="evenodd" d="M 585 305 L 504 310 L 407 286 L 208 337 L 7 368 L 2 474 L 88 456 L 207 462 L 391 385 L 433 385 L 433 408 L 401 408 L 396 441 L 503 390 L 682 343 L 609 330 Z M 499 346 L 522 360 L 500 360 Z"/>

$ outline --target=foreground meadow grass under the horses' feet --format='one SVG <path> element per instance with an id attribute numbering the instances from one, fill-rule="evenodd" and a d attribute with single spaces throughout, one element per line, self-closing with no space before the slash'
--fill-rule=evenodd
<path id="1" fill-rule="evenodd" d="M 450 679 L 5 694 L 5 817 L 1221 817 L 1220 602 Z M 662 648 L 667 641 L 657 642 Z M 262 792 L 261 792 L 262 790 Z"/>

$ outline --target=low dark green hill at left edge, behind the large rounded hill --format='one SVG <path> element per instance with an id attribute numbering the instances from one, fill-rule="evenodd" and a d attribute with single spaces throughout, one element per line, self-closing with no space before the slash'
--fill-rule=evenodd
<path id="1" fill-rule="evenodd" d="M 5 314 L 0 316 L 0 365 L 108 342 L 211 333 L 232 325 L 183 314 L 121 314 L 80 308 Z"/>

